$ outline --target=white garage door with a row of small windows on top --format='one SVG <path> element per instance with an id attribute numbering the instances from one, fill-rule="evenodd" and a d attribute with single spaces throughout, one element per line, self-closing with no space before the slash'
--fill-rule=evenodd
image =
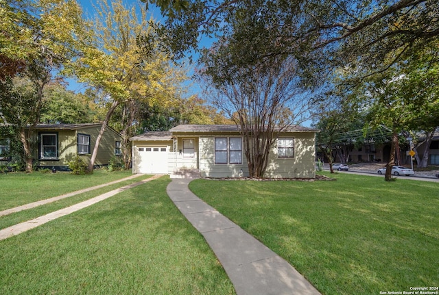
<path id="1" fill-rule="evenodd" d="M 167 174 L 166 146 L 139 147 L 137 170 L 145 174 Z"/>

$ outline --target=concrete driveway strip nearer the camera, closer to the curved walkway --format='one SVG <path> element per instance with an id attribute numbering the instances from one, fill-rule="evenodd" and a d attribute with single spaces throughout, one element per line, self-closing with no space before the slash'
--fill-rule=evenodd
<path id="1" fill-rule="evenodd" d="M 90 199 L 83 201 L 81 203 L 71 205 L 70 207 L 51 212 L 51 213 L 46 214 L 44 216 L 37 217 L 33 220 L 28 220 L 26 222 L 19 223 L 18 225 L 12 225 L 12 227 L 7 227 L 5 229 L 0 230 L 0 240 L 10 238 L 13 235 L 18 235 L 19 233 L 23 233 L 24 231 L 28 231 L 29 229 L 33 229 L 34 227 L 38 227 L 39 225 L 43 225 L 46 222 L 49 222 L 49 221 L 54 220 L 56 218 L 60 218 L 62 216 L 66 216 L 66 215 L 71 214 L 75 211 L 78 211 L 80 209 L 83 209 L 85 207 L 93 205 L 97 202 L 103 201 L 106 198 L 110 198 L 110 196 L 114 196 L 115 194 L 119 194 L 119 192 L 123 192 L 124 190 L 128 190 L 130 188 L 135 188 L 138 185 L 141 185 L 141 184 L 146 183 L 148 181 L 152 181 L 152 180 L 157 179 L 158 177 L 162 177 L 162 176 L 163 175 L 154 175 L 153 177 L 143 179 L 142 181 L 132 183 L 130 185 L 125 185 L 121 188 L 117 188 L 116 190 L 112 190 L 110 192 L 106 192 L 105 194 L 95 196 L 94 198 L 90 198 Z"/>

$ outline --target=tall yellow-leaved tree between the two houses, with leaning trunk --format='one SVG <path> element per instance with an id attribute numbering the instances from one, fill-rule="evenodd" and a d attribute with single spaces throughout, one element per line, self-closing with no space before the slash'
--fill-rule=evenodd
<path id="1" fill-rule="evenodd" d="M 144 11 L 139 12 L 134 6 L 126 9 L 121 0 L 103 1 L 97 10 L 96 42 L 84 50 L 75 70 L 80 81 L 96 88 L 107 110 L 88 164 L 89 171 L 93 170 L 102 134 L 119 105 L 122 106 L 119 130 L 123 134 L 123 157 L 128 161 L 130 129 L 138 118 L 135 106 L 141 102 L 166 107 L 178 97 L 179 84 L 185 79 L 185 71 L 174 67 L 167 55 L 156 50 L 156 45 L 152 44 L 152 50 L 147 53 L 138 46 L 139 36 L 152 30 Z"/>

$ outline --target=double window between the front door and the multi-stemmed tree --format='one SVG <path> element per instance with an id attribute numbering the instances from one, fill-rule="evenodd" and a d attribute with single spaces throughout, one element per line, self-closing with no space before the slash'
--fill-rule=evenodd
<path id="1" fill-rule="evenodd" d="M 241 138 L 215 138 L 215 164 L 242 164 Z"/>

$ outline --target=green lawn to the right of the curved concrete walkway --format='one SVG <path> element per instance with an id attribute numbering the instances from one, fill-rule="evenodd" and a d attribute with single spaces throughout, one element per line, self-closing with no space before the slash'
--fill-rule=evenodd
<path id="1" fill-rule="evenodd" d="M 287 259 L 322 294 L 438 286 L 438 183 L 335 178 L 199 179 L 189 187 Z"/>

